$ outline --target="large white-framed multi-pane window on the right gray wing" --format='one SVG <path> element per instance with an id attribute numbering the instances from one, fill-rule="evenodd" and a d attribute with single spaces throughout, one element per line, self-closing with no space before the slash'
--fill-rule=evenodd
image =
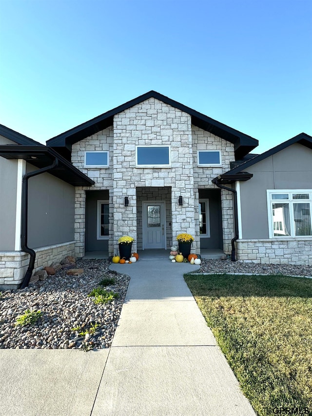
<path id="1" fill-rule="evenodd" d="M 312 236 L 312 190 L 267 190 L 269 237 Z"/>

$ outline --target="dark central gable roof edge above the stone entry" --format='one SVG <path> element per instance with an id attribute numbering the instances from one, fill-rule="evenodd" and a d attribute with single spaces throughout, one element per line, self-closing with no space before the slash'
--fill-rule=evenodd
<path id="1" fill-rule="evenodd" d="M 51 147 L 67 147 L 71 149 L 72 144 L 77 143 L 78 141 L 85 139 L 99 131 L 113 125 L 114 116 L 121 111 L 127 110 L 128 108 L 133 107 L 134 105 L 149 99 L 156 98 L 160 101 L 171 105 L 185 113 L 188 113 L 191 116 L 192 124 L 195 126 L 209 131 L 215 136 L 225 139 L 234 144 L 235 156 L 236 158 L 242 158 L 251 152 L 257 145 L 258 140 L 248 136 L 238 130 L 233 129 L 219 121 L 211 119 L 204 114 L 198 113 L 198 111 L 193 110 L 186 105 L 181 104 L 173 99 L 170 99 L 162 94 L 157 93 L 156 91 L 149 91 L 135 99 L 132 99 L 118 107 L 107 111 L 106 113 L 101 114 L 94 119 L 86 121 L 70 130 L 67 130 L 64 133 L 59 134 L 58 136 L 47 140 L 47 146 Z"/>

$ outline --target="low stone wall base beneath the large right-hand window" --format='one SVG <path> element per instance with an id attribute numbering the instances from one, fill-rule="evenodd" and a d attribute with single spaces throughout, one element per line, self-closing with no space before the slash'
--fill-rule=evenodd
<path id="1" fill-rule="evenodd" d="M 312 238 L 237 240 L 236 258 L 254 263 L 312 265 Z"/>

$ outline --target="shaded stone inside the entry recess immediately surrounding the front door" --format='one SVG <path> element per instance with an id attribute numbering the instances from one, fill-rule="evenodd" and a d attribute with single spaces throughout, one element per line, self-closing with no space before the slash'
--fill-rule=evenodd
<path id="1" fill-rule="evenodd" d="M 142 202 L 165 201 L 166 203 L 166 240 L 167 249 L 172 241 L 171 188 L 137 188 L 137 249 L 142 249 Z M 176 244 L 176 241 L 174 242 Z"/>

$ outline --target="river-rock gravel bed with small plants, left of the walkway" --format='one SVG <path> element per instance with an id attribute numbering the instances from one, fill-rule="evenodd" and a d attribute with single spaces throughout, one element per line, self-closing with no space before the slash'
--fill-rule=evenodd
<path id="1" fill-rule="evenodd" d="M 66 270 L 59 270 L 25 289 L 0 293 L 0 348 L 109 348 L 130 280 L 108 270 L 109 265 L 108 260 L 80 259 L 77 267 L 84 269 L 80 276 L 67 276 Z M 119 297 L 95 304 L 88 294 L 106 277 L 115 281 L 103 289 L 117 292 Z M 34 324 L 15 326 L 16 318 L 27 309 L 40 310 L 43 315 Z M 92 324 L 96 327 L 93 334 Z M 88 334 L 81 335 L 85 331 Z"/>

